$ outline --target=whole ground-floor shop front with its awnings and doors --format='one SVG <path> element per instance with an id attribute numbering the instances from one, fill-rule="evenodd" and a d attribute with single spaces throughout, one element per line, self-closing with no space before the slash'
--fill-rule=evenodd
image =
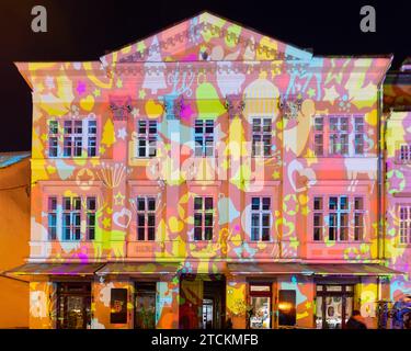
<path id="1" fill-rule="evenodd" d="M 377 327 L 378 264 L 228 263 L 216 274 L 179 263 L 28 263 L 34 329 L 343 329 L 354 309 Z M 384 296 L 383 296 L 384 297 Z"/>

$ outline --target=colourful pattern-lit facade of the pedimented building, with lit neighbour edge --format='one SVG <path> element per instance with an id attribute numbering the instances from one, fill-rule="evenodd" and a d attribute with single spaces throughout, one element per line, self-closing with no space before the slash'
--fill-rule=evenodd
<path id="1" fill-rule="evenodd" d="M 32 229 L 10 274 L 31 281 L 30 327 L 343 328 L 359 309 L 376 328 L 411 286 L 396 208 L 386 247 L 380 215 L 391 58 L 317 57 L 204 12 L 98 61 L 16 64 Z"/>

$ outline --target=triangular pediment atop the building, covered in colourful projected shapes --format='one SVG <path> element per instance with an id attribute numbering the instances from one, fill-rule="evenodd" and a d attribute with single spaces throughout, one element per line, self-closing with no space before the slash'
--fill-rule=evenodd
<path id="1" fill-rule="evenodd" d="M 213 52 L 207 52 L 213 50 Z M 206 54 L 204 54 L 206 53 Z M 220 59 L 216 59 L 216 58 Z M 101 57 L 114 63 L 309 60 L 312 54 L 207 11 Z"/>

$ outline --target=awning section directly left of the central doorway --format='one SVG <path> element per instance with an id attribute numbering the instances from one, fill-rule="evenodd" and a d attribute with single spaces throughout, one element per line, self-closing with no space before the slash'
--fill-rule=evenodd
<path id="1" fill-rule="evenodd" d="M 106 263 L 95 274 L 156 275 L 175 273 L 178 269 L 179 263 L 113 262 Z"/>

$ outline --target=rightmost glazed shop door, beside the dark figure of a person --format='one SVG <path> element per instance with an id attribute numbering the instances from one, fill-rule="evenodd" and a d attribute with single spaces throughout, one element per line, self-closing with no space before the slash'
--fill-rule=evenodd
<path id="1" fill-rule="evenodd" d="M 353 285 L 317 285 L 317 329 L 343 329 L 353 313 Z"/>

